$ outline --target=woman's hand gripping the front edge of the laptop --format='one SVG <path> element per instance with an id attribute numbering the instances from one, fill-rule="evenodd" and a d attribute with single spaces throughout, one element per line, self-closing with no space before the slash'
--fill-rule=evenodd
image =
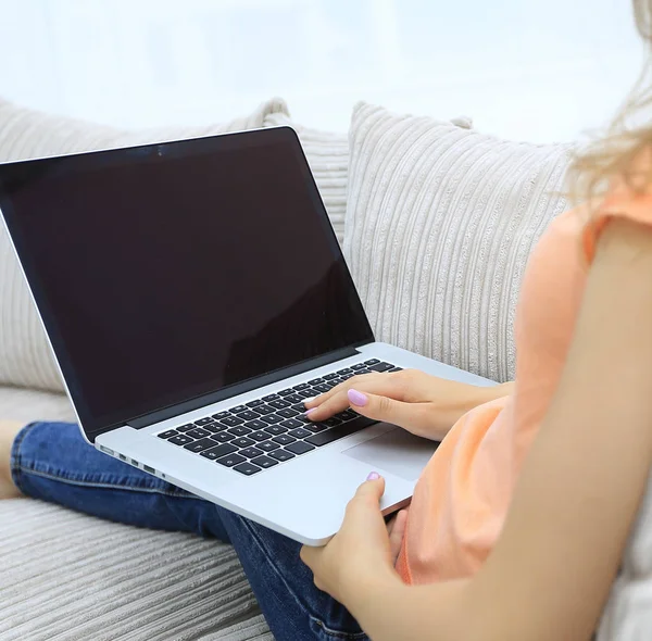
<path id="1" fill-rule="evenodd" d="M 301 549 L 301 560 L 312 569 L 315 586 L 351 607 L 365 587 L 400 582 L 394 570 L 408 513 L 388 524 L 379 501 L 385 480 L 376 473 L 362 483 L 347 505 L 339 532 L 324 548 Z"/>

